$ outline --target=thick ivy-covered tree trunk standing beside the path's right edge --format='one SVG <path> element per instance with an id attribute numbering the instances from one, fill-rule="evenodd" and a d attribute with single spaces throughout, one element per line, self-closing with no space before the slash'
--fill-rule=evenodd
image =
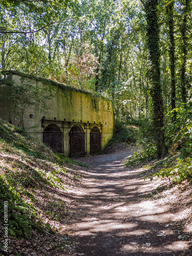
<path id="1" fill-rule="evenodd" d="M 155 140 L 157 144 L 157 156 L 163 157 L 167 148 L 164 139 L 164 114 L 160 85 L 160 51 L 159 51 L 159 26 L 157 17 L 158 0 L 146 0 L 145 12 L 147 23 L 147 46 L 150 62 L 151 97 L 153 102 L 153 123 Z"/>

